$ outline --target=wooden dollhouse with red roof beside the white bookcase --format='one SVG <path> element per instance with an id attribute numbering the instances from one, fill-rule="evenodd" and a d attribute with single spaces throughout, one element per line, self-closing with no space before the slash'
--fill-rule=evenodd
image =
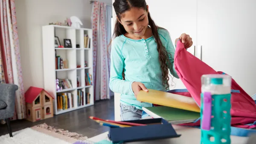
<path id="1" fill-rule="evenodd" d="M 44 89 L 31 86 L 25 92 L 27 120 L 39 121 L 53 117 L 53 97 Z"/>

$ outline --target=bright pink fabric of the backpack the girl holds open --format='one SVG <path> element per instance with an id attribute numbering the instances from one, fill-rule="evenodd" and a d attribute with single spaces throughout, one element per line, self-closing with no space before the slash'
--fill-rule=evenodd
<path id="1" fill-rule="evenodd" d="M 178 56 L 177 56 L 178 55 Z M 196 58 L 191 53 L 187 52 L 184 44 L 178 40 L 174 56 L 174 64 L 177 75 L 180 77 L 183 84 L 189 92 L 176 92 L 176 94 L 185 95 L 194 98 L 195 102 L 200 107 L 201 94 L 201 76 L 204 74 L 222 74 L 216 72 L 206 63 Z M 232 93 L 231 97 L 231 125 L 233 127 L 253 128 L 244 124 L 251 124 L 256 121 L 256 104 L 237 83 L 232 79 L 232 88 L 239 90 L 240 93 Z M 199 126 L 200 121 L 183 125 Z"/>

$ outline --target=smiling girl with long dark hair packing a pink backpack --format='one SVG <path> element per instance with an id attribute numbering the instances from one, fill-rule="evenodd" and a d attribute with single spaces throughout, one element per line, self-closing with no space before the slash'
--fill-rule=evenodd
<path id="1" fill-rule="evenodd" d="M 142 107 L 152 104 L 137 101 L 140 90 L 169 89 L 168 69 L 174 69 L 175 49 L 169 32 L 157 27 L 150 17 L 145 0 L 115 0 L 116 24 L 111 46 L 110 89 L 121 93 L 121 120 L 136 120 Z M 180 39 L 185 48 L 192 46 L 189 35 Z M 147 89 L 148 88 L 148 89 Z"/>

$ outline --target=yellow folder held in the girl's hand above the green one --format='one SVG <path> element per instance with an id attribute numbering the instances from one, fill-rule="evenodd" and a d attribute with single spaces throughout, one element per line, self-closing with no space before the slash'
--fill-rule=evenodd
<path id="1" fill-rule="evenodd" d="M 148 92 L 141 90 L 137 95 L 137 100 L 166 107 L 200 112 L 200 108 L 193 98 L 154 89 L 148 89 Z"/>

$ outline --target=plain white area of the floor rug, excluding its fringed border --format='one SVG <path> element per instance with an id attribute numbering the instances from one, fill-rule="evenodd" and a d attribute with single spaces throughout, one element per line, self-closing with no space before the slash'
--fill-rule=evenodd
<path id="1" fill-rule="evenodd" d="M 13 132 L 12 135 L 12 138 L 9 134 L 0 136 L 0 144 L 72 144 L 31 128 Z"/>

